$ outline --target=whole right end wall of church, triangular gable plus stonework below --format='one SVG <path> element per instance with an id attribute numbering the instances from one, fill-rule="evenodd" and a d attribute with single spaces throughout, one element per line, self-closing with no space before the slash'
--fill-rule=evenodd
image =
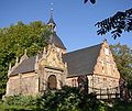
<path id="1" fill-rule="evenodd" d="M 100 55 L 97 59 L 92 76 L 94 88 L 116 88 L 119 87 L 120 74 L 109 49 L 108 43 L 103 42 Z"/>

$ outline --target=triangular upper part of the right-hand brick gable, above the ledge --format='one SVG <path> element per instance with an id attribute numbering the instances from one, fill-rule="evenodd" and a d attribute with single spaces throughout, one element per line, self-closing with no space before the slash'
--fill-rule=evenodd
<path id="1" fill-rule="evenodd" d="M 120 74 L 107 42 L 103 42 L 102 44 L 94 74 L 112 78 L 120 78 Z"/>

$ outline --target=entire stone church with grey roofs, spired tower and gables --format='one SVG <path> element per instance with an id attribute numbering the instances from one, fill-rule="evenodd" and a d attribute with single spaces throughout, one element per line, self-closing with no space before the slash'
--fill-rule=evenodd
<path id="1" fill-rule="evenodd" d="M 67 53 L 56 34 L 52 15 L 47 25 L 53 33 L 43 53 L 29 57 L 25 51 L 14 66 L 9 66 L 6 96 L 34 96 L 47 89 L 61 89 L 63 86 L 85 86 L 88 92 L 119 87 L 120 74 L 106 40 Z"/>

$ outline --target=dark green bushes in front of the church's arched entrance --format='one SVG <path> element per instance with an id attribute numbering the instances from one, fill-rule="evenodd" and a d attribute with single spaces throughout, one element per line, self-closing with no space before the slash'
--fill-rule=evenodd
<path id="1" fill-rule="evenodd" d="M 62 90 L 46 91 L 38 99 L 38 109 L 45 111 L 101 111 L 105 108 L 94 93 L 79 93 L 78 88 L 65 86 Z M 37 109 L 37 110 L 38 110 Z"/>

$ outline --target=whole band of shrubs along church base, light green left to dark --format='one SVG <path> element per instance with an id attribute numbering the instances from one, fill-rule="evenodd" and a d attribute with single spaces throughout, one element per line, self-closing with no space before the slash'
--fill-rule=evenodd
<path id="1" fill-rule="evenodd" d="M 77 88 L 64 87 L 62 90 L 48 90 L 42 96 L 7 97 L 6 109 L 20 111 L 106 111 L 107 106 L 96 99 L 95 95 L 81 95 Z M 13 110 L 12 110 L 13 109 Z"/>

